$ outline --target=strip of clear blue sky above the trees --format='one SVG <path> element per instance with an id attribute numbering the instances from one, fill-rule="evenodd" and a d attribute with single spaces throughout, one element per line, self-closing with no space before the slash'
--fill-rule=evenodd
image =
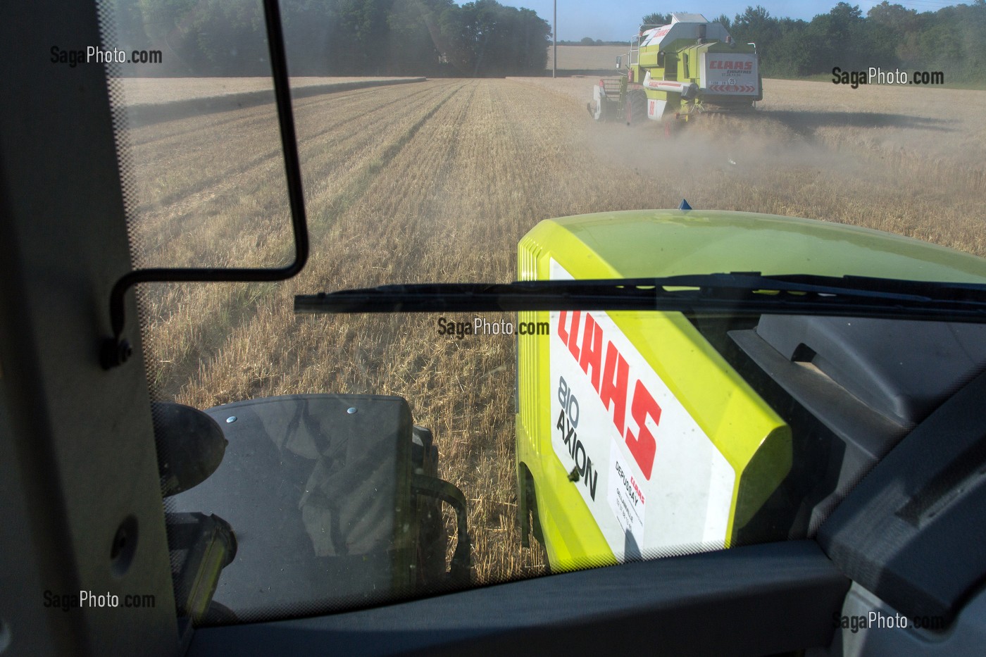
<path id="1" fill-rule="evenodd" d="M 578 40 L 582 37 L 602 40 L 626 40 L 636 33 L 640 19 L 652 12 L 695 12 L 712 20 L 720 14 L 729 17 L 743 12 L 747 5 L 761 5 L 771 16 L 805 19 L 810 21 L 816 14 L 827 14 L 839 0 L 808 0 L 807 2 L 785 2 L 771 0 L 679 0 L 673 4 L 651 2 L 648 0 L 558 0 L 558 38 Z M 866 14 L 880 0 L 849 0 L 859 5 Z M 894 0 L 890 0 L 894 2 Z M 971 0 L 965 0 L 971 4 Z M 527 7 L 537 12 L 542 19 L 551 23 L 552 0 L 499 0 L 500 4 L 513 7 Z M 936 11 L 941 7 L 958 4 L 948 0 L 895 0 L 918 12 Z"/>

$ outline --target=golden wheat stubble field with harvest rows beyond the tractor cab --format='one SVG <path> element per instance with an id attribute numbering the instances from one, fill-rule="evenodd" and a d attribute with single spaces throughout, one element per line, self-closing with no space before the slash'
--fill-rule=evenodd
<path id="1" fill-rule="evenodd" d="M 656 124 L 595 123 L 592 82 L 432 80 L 297 101 L 310 263 L 280 284 L 142 286 L 159 397 L 404 397 L 469 500 L 475 576 L 491 582 L 542 568 L 515 520 L 513 338 L 439 335 L 431 315 L 295 316 L 295 294 L 509 281 L 518 240 L 542 219 L 682 197 L 986 255 L 986 92 L 766 81 L 757 113 L 667 139 Z M 132 130 L 142 263 L 285 262 L 278 139 L 271 106 Z"/>

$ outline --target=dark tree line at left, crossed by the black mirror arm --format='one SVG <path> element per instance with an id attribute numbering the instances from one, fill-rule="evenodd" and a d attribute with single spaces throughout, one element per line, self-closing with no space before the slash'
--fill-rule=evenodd
<path id="1" fill-rule="evenodd" d="M 111 0 L 116 43 L 157 49 L 140 75 L 269 75 L 259 0 Z M 548 23 L 496 0 L 281 0 L 292 75 L 540 74 Z"/>

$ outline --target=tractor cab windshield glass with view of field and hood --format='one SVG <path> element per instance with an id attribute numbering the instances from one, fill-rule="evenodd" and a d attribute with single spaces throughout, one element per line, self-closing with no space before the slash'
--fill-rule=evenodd
<path id="1" fill-rule="evenodd" d="M 979 326 L 769 300 L 295 299 L 728 272 L 986 283 L 986 7 L 925 5 L 282 1 L 309 262 L 138 290 L 153 397 L 227 441 L 166 500 L 236 537 L 211 606 L 179 611 L 321 614 L 813 536 L 986 366 Z M 51 56 L 106 64 L 135 268 L 289 263 L 261 5 L 105 10 L 101 48 Z"/>

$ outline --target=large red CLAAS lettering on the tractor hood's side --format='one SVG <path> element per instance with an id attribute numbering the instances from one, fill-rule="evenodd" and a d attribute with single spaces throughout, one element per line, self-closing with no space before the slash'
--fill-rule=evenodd
<path id="1" fill-rule="evenodd" d="M 611 411 L 613 425 L 626 441 L 644 478 L 650 479 L 658 445 L 647 419 L 657 426 L 661 422 L 661 406 L 644 382 L 631 376 L 630 364 L 592 315 L 562 311 L 557 334 L 589 378 L 602 406 Z M 636 425 L 636 433 L 632 425 Z"/>

